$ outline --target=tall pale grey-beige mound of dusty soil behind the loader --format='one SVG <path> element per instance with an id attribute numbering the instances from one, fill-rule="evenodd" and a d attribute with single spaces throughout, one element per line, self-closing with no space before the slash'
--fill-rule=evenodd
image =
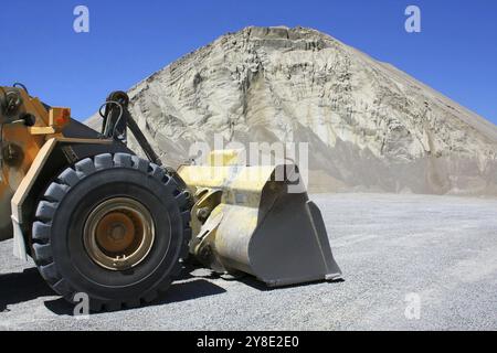
<path id="1" fill-rule="evenodd" d="M 223 35 L 129 94 L 172 165 L 216 132 L 243 143 L 309 142 L 315 191 L 497 194 L 496 126 L 315 30 Z"/>

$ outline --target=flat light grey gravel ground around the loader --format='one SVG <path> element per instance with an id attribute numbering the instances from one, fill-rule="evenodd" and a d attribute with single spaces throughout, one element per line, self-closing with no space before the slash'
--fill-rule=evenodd
<path id="1" fill-rule="evenodd" d="M 77 319 L 32 264 L 11 256 L 8 240 L 0 244 L 0 329 L 497 330 L 497 200 L 313 199 L 342 282 L 267 290 L 250 278 L 226 281 L 198 269 L 149 307 Z M 416 299 L 419 318 L 409 310 Z"/>

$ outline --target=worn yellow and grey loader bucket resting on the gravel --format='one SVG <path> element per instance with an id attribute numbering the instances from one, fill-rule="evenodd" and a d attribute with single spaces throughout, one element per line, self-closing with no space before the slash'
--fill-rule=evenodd
<path id="1" fill-rule="evenodd" d="M 296 165 L 239 165 L 235 151 L 211 157 L 208 165 L 178 170 L 195 195 L 190 253 L 198 260 L 219 272 L 253 275 L 269 287 L 341 277 Z"/>

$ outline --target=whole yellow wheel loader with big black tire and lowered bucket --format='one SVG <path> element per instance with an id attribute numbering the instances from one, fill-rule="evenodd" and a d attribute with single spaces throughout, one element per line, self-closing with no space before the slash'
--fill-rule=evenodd
<path id="1" fill-rule="evenodd" d="M 318 207 L 305 188 L 290 192 L 296 165 L 246 165 L 224 150 L 163 167 L 128 104 L 110 94 L 95 131 L 22 85 L 0 87 L 0 240 L 13 237 L 56 293 L 86 293 L 92 311 L 134 308 L 187 263 L 269 287 L 341 277 Z"/>

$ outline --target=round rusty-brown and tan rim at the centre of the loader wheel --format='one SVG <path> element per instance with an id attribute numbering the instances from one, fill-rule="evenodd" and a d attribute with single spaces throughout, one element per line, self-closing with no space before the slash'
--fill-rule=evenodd
<path id="1" fill-rule="evenodd" d="M 88 256 L 110 270 L 125 270 L 140 264 L 150 253 L 154 240 L 150 212 L 128 197 L 114 197 L 96 206 L 84 227 Z"/>

